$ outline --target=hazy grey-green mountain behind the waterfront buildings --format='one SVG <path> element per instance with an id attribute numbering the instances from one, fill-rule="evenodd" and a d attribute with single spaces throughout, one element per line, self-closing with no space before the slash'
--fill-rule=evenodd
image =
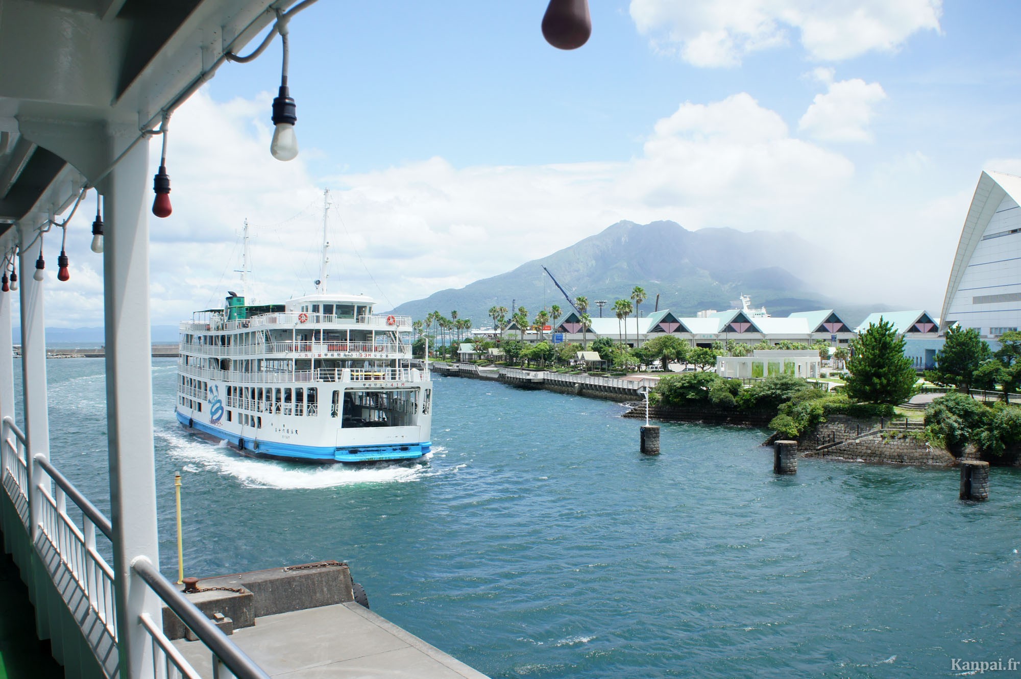
<path id="1" fill-rule="evenodd" d="M 817 261 L 813 247 L 791 233 L 701 228 L 690 231 L 673 221 L 636 224 L 620 221 L 558 252 L 522 264 L 513 271 L 484 278 L 460 289 L 443 290 L 424 300 L 405 302 L 393 311 L 421 319 L 431 311 L 471 318 L 476 327 L 491 325 L 492 306 L 528 309 L 534 318 L 543 306 L 570 306 L 542 267 L 547 267 L 571 297 L 584 295 L 589 314 L 598 316 L 594 302 L 606 300 L 604 316 L 613 316 L 615 300 L 629 299 L 635 285 L 645 289 L 642 315 L 660 309 L 694 316 L 702 309 L 732 308 L 731 301 L 749 295 L 752 305 L 766 306 L 774 316 L 792 311 L 832 308 L 810 280 Z M 844 305 L 847 308 L 846 305 Z M 869 311 L 857 307 L 848 316 L 864 318 Z M 883 311 L 878 306 L 871 311 Z M 848 308 L 848 310 L 850 310 Z M 853 322 L 853 318 L 845 319 Z"/>

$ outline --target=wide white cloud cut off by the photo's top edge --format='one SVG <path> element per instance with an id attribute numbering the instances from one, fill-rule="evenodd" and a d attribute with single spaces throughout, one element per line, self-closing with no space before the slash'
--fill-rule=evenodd
<path id="1" fill-rule="evenodd" d="M 800 37 L 811 59 L 892 52 L 918 31 L 939 31 L 941 0 L 631 0 L 631 17 L 653 48 L 695 66 L 736 66 Z"/>

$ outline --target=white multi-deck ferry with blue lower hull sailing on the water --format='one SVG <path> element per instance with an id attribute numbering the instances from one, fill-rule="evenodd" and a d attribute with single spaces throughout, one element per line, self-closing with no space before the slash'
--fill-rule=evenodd
<path id="1" fill-rule="evenodd" d="M 430 452 L 432 381 L 411 366 L 409 316 L 357 295 L 224 309 L 181 324 L 178 420 L 246 455 L 305 462 Z"/>

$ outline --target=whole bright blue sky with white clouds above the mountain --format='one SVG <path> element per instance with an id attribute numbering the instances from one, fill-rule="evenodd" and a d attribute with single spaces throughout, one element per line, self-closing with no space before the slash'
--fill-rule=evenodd
<path id="1" fill-rule="evenodd" d="M 787 264 L 821 291 L 938 313 L 979 172 L 1021 173 L 1016 2 L 592 0 L 571 52 L 544 10 L 314 4 L 291 23 L 290 163 L 268 150 L 279 41 L 223 66 L 173 120 L 154 320 L 236 280 L 245 217 L 249 294 L 308 292 L 325 188 L 331 289 L 381 308 L 673 219 L 795 233 L 820 259 Z M 51 293 L 66 325 L 101 318 L 93 268 Z"/>

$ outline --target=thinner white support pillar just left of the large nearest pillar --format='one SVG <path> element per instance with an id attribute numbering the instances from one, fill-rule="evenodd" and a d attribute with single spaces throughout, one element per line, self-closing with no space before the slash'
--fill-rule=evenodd
<path id="1" fill-rule="evenodd" d="M 21 228 L 19 226 L 19 228 Z M 36 280 L 36 260 L 43 239 L 39 231 L 23 228 L 20 232 L 21 255 L 18 260 L 18 280 L 21 291 L 21 390 L 25 404 L 25 434 L 29 439 L 29 519 L 32 539 L 39 534 L 42 497 L 37 488 L 45 473 L 33 463 L 32 457 L 50 455 L 50 418 L 46 398 L 46 329 L 43 319 L 43 281 Z M 35 243 L 33 243 L 35 239 Z M 31 244 L 31 245 L 30 245 Z"/>

